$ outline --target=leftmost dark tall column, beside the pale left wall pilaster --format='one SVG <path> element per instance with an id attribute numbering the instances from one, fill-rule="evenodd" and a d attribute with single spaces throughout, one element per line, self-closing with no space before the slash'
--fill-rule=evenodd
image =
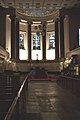
<path id="1" fill-rule="evenodd" d="M 11 59 L 16 58 L 16 20 L 15 15 L 11 16 Z"/>

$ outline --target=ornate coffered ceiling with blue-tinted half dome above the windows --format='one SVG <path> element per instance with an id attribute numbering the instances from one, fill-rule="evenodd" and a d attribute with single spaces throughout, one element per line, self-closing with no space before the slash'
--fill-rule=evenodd
<path id="1" fill-rule="evenodd" d="M 0 5 L 12 6 L 22 15 L 40 18 L 55 15 L 63 7 L 80 6 L 80 0 L 0 0 Z"/>

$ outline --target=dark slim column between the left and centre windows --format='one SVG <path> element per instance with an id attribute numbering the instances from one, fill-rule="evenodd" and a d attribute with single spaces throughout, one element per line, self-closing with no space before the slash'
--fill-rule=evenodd
<path id="1" fill-rule="evenodd" d="M 31 22 L 28 22 L 28 60 L 31 60 Z"/>

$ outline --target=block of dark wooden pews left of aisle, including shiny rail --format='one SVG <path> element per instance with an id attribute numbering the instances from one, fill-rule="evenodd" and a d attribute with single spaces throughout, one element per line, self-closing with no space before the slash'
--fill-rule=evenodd
<path id="1" fill-rule="evenodd" d="M 12 71 L 0 73 L 0 120 L 17 120 L 19 104 L 25 99 L 25 89 L 28 87 L 27 74 Z M 26 100 L 25 100 L 26 101 Z M 21 102 L 21 103 L 20 103 Z M 15 118 L 15 119 L 14 119 Z"/>

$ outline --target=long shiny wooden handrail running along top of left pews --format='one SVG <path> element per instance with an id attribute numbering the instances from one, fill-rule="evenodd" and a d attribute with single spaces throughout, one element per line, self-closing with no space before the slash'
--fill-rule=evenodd
<path id="1" fill-rule="evenodd" d="M 14 98 L 14 101 L 13 101 L 12 105 L 10 106 L 10 108 L 9 108 L 5 118 L 4 118 L 4 120 L 11 120 L 10 119 L 11 115 L 12 115 L 12 113 L 13 113 L 15 107 L 16 107 L 16 104 L 18 102 L 18 99 L 20 98 L 21 92 L 23 90 L 23 87 L 24 87 L 27 79 L 28 79 L 28 76 L 26 76 L 26 78 L 24 79 L 24 81 L 23 81 L 23 83 L 22 83 L 22 85 L 21 85 L 21 87 L 20 87 L 20 89 L 19 89 L 19 91 L 17 93 L 17 96 Z"/>

